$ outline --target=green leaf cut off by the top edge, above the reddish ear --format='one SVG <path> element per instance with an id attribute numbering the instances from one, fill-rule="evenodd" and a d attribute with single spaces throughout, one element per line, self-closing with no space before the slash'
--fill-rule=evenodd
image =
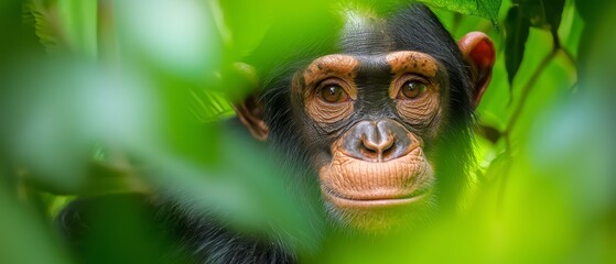
<path id="1" fill-rule="evenodd" d="M 498 24 L 498 10 L 502 0 L 420 0 L 439 8 L 460 12 L 463 14 L 479 15 L 489 19 L 493 24 Z"/>

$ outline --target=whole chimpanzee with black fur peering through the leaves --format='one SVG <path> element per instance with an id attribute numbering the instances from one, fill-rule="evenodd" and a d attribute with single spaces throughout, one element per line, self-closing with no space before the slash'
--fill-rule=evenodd
<path id="1" fill-rule="evenodd" d="M 378 235 L 425 211 L 454 208 L 473 163 L 473 112 L 490 79 L 491 41 L 473 32 L 456 43 L 420 3 L 389 14 L 349 8 L 339 16 L 332 40 L 304 37 L 289 44 L 294 54 L 278 56 L 257 48 L 255 68 L 250 58 L 238 66 L 260 80 L 235 105 L 238 119 L 257 140 L 305 165 L 328 223 L 339 229 Z M 64 210 L 73 241 L 88 232 L 83 210 L 97 202 L 104 201 Z M 179 205 L 148 205 L 180 238 L 185 260 L 296 262 L 277 241 L 241 235 Z"/>

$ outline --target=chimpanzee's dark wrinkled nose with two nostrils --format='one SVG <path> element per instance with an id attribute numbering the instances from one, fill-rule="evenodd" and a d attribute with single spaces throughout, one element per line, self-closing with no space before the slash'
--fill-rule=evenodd
<path id="1" fill-rule="evenodd" d="M 370 162 L 387 162 L 407 154 L 411 145 L 409 131 L 393 120 L 361 121 L 343 142 L 347 154 Z"/>

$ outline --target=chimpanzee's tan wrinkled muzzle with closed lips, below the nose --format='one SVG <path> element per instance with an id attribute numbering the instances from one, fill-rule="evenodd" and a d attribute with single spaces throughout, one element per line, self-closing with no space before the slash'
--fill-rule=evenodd
<path id="1" fill-rule="evenodd" d="M 430 196 L 434 175 L 421 147 L 383 163 L 343 153 L 320 169 L 321 191 L 341 209 L 386 209 L 415 204 Z"/>

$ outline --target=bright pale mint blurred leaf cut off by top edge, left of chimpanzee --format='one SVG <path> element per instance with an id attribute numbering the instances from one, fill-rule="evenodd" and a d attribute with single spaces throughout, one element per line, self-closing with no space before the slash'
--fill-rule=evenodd
<path id="1" fill-rule="evenodd" d="M 122 56 L 184 80 L 202 81 L 221 41 L 204 1 L 114 1 Z"/>

